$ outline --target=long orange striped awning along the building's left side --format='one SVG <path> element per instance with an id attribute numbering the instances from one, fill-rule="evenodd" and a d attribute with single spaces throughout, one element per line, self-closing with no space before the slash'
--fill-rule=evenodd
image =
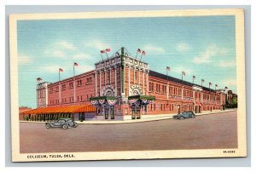
<path id="1" fill-rule="evenodd" d="M 43 113 L 75 113 L 75 112 L 96 112 L 92 105 L 71 105 L 71 106 L 49 106 L 32 109 L 20 114 L 43 114 Z"/>

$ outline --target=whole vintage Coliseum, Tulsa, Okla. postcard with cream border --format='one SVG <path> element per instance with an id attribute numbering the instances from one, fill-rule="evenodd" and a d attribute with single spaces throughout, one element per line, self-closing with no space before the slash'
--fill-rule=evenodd
<path id="1" fill-rule="evenodd" d="M 246 157 L 243 9 L 11 14 L 12 160 Z"/>

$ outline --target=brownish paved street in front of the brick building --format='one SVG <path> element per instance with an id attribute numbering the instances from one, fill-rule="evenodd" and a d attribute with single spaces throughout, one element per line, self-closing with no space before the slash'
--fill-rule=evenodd
<path id="1" fill-rule="evenodd" d="M 80 124 L 66 130 L 45 129 L 44 123 L 20 123 L 20 152 L 236 148 L 236 127 L 236 111 L 184 120 Z"/>

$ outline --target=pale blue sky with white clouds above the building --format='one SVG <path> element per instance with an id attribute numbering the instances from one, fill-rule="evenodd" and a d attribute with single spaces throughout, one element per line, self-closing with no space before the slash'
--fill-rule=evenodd
<path id="1" fill-rule="evenodd" d="M 218 84 L 236 93 L 235 16 L 20 20 L 18 21 L 19 104 L 36 107 L 37 77 L 44 82 L 94 69 L 101 49 L 113 54 L 120 47 L 136 55 L 146 51 L 143 60 L 150 69 L 204 85 Z"/>

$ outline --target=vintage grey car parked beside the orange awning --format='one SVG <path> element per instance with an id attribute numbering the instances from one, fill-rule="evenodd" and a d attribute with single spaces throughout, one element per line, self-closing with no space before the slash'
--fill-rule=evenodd
<path id="1" fill-rule="evenodd" d="M 59 127 L 62 129 L 68 129 L 68 128 L 77 127 L 77 126 L 78 126 L 78 123 L 75 123 L 71 118 L 60 118 L 53 123 L 45 123 L 46 129 L 56 128 L 56 127 Z"/>

